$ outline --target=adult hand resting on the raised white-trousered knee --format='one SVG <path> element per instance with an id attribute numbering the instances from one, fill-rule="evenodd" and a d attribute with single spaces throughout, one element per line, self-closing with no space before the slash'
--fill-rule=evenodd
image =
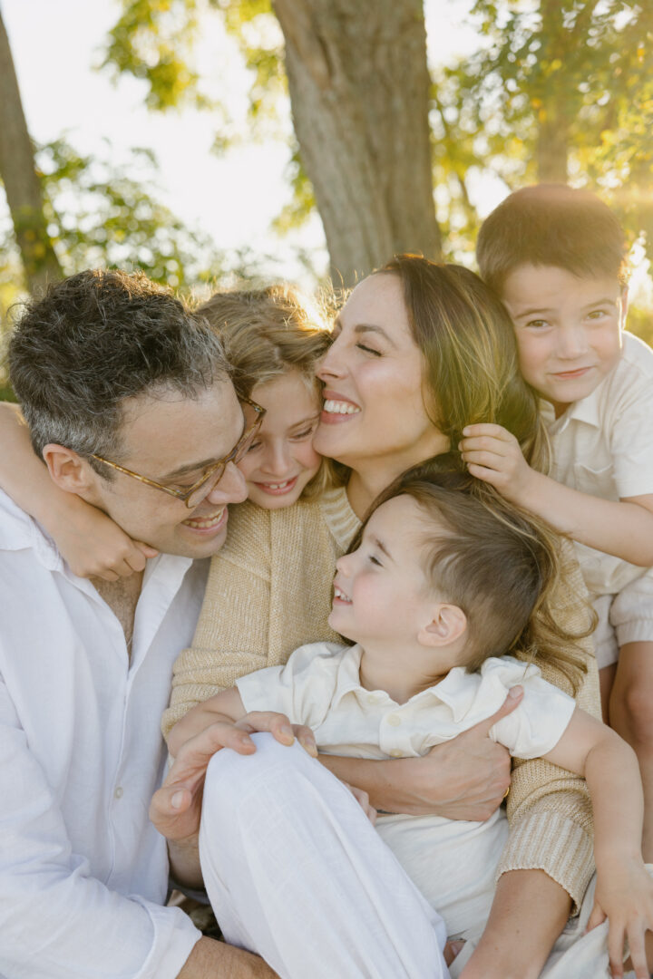
<path id="1" fill-rule="evenodd" d="M 240 755 L 257 750 L 250 734 L 269 731 L 281 744 L 297 737 L 305 751 L 317 757 L 315 737 L 309 727 L 291 724 L 284 714 L 257 711 L 236 723 L 214 723 L 183 744 L 159 791 L 150 804 L 150 818 L 162 835 L 175 842 L 190 841 L 200 831 L 202 794 L 207 766 L 220 748 Z"/>

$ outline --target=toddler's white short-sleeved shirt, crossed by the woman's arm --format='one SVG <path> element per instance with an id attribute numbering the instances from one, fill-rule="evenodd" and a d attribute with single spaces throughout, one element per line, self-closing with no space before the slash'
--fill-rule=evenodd
<path id="1" fill-rule="evenodd" d="M 237 681 L 247 711 L 271 710 L 308 724 L 324 754 L 411 758 L 494 714 L 507 691 L 524 687 L 520 705 L 494 724 L 490 737 L 511 755 L 537 758 L 560 740 L 576 704 L 539 670 L 509 656 L 492 657 L 480 673 L 461 667 L 404 704 L 360 684 L 360 646 L 301 646 L 283 667 Z M 319 764 L 319 763 L 317 763 Z M 376 828 L 446 923 L 449 936 L 477 938 L 485 927 L 495 869 L 507 839 L 503 810 L 485 822 L 442 816 L 380 815 Z"/>

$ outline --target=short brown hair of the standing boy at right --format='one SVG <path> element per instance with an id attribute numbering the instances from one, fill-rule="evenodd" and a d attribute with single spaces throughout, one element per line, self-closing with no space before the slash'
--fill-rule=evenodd
<path id="1" fill-rule="evenodd" d="M 595 194 L 565 184 L 510 194 L 481 225 L 476 257 L 482 278 L 499 295 L 506 277 L 527 264 L 628 282 L 626 239 L 617 217 Z"/>

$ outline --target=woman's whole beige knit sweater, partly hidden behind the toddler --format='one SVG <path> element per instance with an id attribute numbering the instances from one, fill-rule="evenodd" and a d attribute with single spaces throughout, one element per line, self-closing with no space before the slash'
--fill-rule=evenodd
<path id="1" fill-rule="evenodd" d="M 243 503 L 230 511 L 229 535 L 213 557 L 193 645 L 177 659 L 163 733 L 200 701 L 239 676 L 285 663 L 304 642 L 334 640 L 329 628 L 336 559 L 360 524 L 345 489 L 318 502 L 281 510 Z M 571 545 L 570 545 L 571 550 Z M 560 621 L 582 629 L 587 615 L 577 596 L 585 588 L 578 566 L 559 601 Z M 600 716 L 598 674 L 589 640 L 588 672 L 579 706 Z M 543 676 L 560 685 L 544 668 Z M 593 872 L 591 806 L 583 779 L 547 762 L 515 760 L 508 796 L 511 832 L 499 864 L 541 869 L 581 903 Z"/>

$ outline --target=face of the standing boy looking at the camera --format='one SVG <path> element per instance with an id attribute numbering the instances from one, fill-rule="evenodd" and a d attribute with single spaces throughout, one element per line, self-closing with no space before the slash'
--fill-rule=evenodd
<path id="1" fill-rule="evenodd" d="M 524 264 L 506 276 L 501 299 L 515 325 L 522 374 L 556 417 L 617 365 L 627 303 L 616 276 L 580 278 Z"/>

